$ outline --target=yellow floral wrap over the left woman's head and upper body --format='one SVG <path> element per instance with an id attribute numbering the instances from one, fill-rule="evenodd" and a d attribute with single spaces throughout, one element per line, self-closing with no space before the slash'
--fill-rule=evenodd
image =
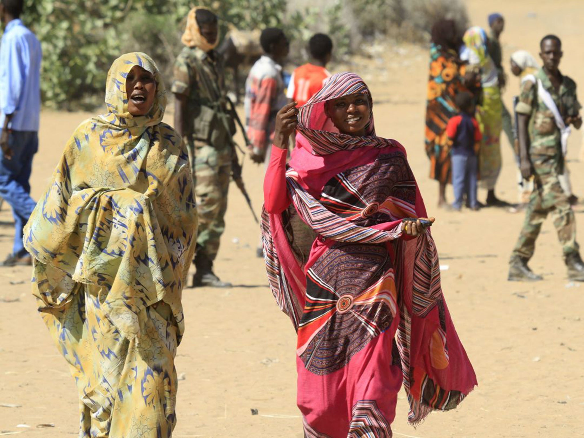
<path id="1" fill-rule="evenodd" d="M 157 82 L 145 116 L 128 113 L 126 77 L 140 65 Z M 128 53 L 107 75 L 107 113 L 75 130 L 25 227 L 40 311 L 72 300 L 82 283 L 102 288 L 103 309 L 126 338 L 145 307 L 164 300 L 183 329 L 180 296 L 197 235 L 186 148 L 162 123 L 164 83 L 148 55 Z M 81 292 L 83 293 L 83 292 Z"/>

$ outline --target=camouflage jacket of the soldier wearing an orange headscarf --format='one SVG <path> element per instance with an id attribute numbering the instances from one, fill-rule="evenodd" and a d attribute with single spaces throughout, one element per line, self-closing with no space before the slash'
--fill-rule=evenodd
<path id="1" fill-rule="evenodd" d="M 227 129 L 215 115 L 225 113 L 225 74 L 223 59 L 198 47 L 183 47 L 174 65 L 171 91 L 187 96 L 185 135 L 217 145 L 227 145 Z M 231 122 L 230 122 L 231 124 Z M 211 136 L 213 141 L 211 141 Z"/>

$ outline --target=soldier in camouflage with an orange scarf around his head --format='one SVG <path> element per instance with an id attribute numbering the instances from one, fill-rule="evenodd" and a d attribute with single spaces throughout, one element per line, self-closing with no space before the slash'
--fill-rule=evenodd
<path id="1" fill-rule="evenodd" d="M 193 8 L 182 36 L 186 47 L 176 58 L 172 92 L 176 97 L 175 128 L 187 144 L 199 213 L 193 287 L 231 287 L 213 273 L 225 230 L 227 192 L 234 151 L 234 121 L 225 106 L 223 62 L 217 46 L 217 16 Z"/>

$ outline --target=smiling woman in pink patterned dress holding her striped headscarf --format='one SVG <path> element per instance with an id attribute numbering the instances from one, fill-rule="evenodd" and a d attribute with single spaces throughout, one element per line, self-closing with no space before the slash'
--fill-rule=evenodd
<path id="1" fill-rule="evenodd" d="M 298 116 L 294 102 L 284 107 L 264 183 L 267 274 L 298 333 L 308 438 L 390 438 L 402 382 L 413 425 L 456 408 L 477 384 L 432 235 L 409 219 L 426 209 L 405 149 L 376 137 L 372 107 L 367 85 L 348 72 Z"/>

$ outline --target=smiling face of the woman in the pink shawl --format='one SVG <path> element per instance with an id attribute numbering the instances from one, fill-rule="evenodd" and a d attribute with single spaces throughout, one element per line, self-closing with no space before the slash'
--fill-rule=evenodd
<path id="1" fill-rule="evenodd" d="M 341 133 L 365 135 L 365 127 L 371 118 L 367 95 L 352 94 L 329 100 L 325 111 Z"/>

